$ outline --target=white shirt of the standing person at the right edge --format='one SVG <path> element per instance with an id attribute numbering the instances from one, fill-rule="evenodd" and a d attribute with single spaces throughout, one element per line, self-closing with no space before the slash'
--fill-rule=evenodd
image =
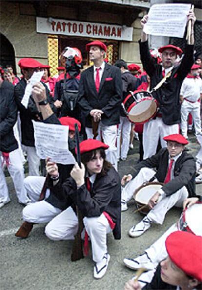
<path id="1" fill-rule="evenodd" d="M 191 102 L 197 102 L 202 93 L 201 78 L 185 78 L 180 90 L 180 95 Z"/>

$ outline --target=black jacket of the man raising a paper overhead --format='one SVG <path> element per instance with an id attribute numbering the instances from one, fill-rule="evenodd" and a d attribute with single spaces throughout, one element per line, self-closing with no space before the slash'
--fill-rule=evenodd
<path id="1" fill-rule="evenodd" d="M 153 89 L 163 78 L 162 66 L 155 64 L 152 59 L 148 42 L 139 42 L 140 56 L 143 67 L 151 78 L 151 89 Z M 186 51 L 180 65 L 174 67 L 171 76 L 166 80 L 160 89 L 152 93 L 157 100 L 162 120 L 166 125 L 180 123 L 180 88 L 184 78 L 189 73 L 193 59 L 194 45 L 186 45 Z"/>

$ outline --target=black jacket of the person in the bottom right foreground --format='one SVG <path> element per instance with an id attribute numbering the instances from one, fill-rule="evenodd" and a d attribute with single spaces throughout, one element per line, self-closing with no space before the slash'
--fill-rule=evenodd
<path id="1" fill-rule="evenodd" d="M 150 283 L 146 284 L 142 288 L 142 290 L 152 290 L 152 289 L 157 289 L 157 290 L 174 289 L 174 290 L 176 290 L 176 288 L 177 288 L 177 286 L 173 286 L 173 285 L 167 284 L 167 283 L 162 281 L 162 279 L 161 279 L 161 266 L 159 264 L 152 281 Z"/>

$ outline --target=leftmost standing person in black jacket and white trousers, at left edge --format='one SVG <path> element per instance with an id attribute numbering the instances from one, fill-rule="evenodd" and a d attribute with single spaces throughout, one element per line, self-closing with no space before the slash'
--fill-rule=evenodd
<path id="1" fill-rule="evenodd" d="M 23 188 L 24 168 L 14 137 L 13 126 L 17 119 L 17 106 L 14 100 L 14 86 L 3 81 L 0 76 L 0 157 L 3 156 L 13 179 L 19 203 L 29 199 Z M 10 201 L 6 179 L 0 165 L 0 208 Z"/>

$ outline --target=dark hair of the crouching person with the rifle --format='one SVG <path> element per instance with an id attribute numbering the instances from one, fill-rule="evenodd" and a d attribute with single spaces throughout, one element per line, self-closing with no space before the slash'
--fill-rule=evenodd
<path id="1" fill-rule="evenodd" d="M 99 175 L 105 176 L 107 174 L 107 171 L 109 171 L 109 169 L 112 168 L 112 164 L 105 159 L 106 153 L 105 153 L 105 150 L 103 148 L 84 152 L 83 154 L 81 154 L 81 162 L 86 166 L 86 163 L 91 161 L 96 156 L 96 154 L 98 152 L 100 153 L 101 157 L 104 160 L 103 167 L 102 167 L 101 173 L 99 173 Z"/>

